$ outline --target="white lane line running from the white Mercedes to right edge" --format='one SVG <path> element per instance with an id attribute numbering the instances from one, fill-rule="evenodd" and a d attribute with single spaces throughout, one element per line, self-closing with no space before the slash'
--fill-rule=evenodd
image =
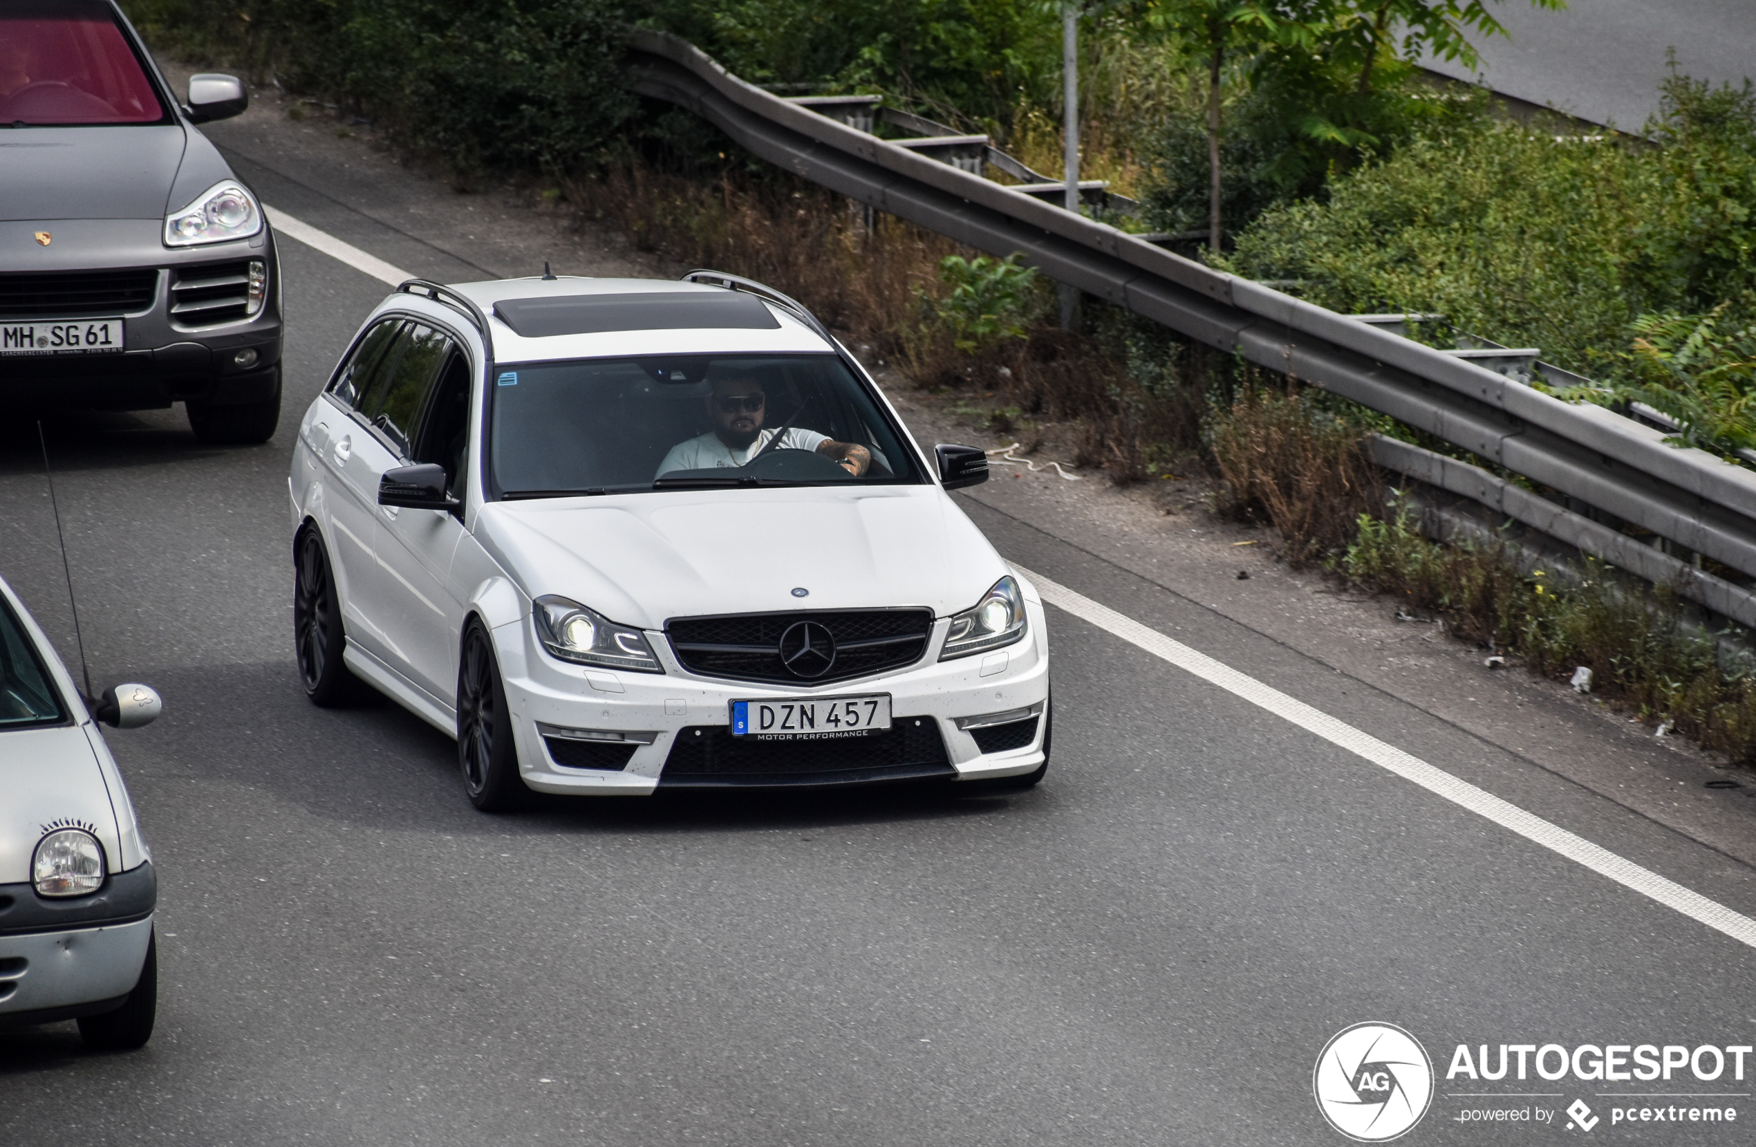
<path id="1" fill-rule="evenodd" d="M 1257 704 L 1275 717 L 1285 718 L 1308 732 L 1315 732 L 1322 739 L 1340 745 L 1342 748 L 1357 754 L 1366 761 L 1389 769 L 1391 773 L 1396 773 L 1403 780 L 1412 780 L 1428 792 L 1438 794 L 1454 804 L 1461 804 L 1472 813 L 1487 817 L 1494 824 L 1512 829 L 1519 836 L 1531 840 L 1544 848 L 1559 852 L 1566 859 L 1584 864 L 1600 876 L 1608 876 L 1623 887 L 1633 889 L 1642 896 L 1651 896 L 1666 908 L 1673 908 L 1693 920 L 1700 920 L 1709 927 L 1723 931 L 1733 940 L 1756 947 L 1756 920 L 1751 920 L 1747 915 L 1733 912 L 1717 901 L 1707 899 L 1700 892 L 1686 889 L 1675 880 L 1666 880 L 1654 871 L 1640 868 L 1633 861 L 1623 859 L 1608 848 L 1601 848 L 1556 824 L 1549 824 L 1542 817 L 1528 813 L 1510 801 L 1500 799 L 1493 792 L 1477 789 L 1466 780 L 1459 780 L 1443 769 L 1436 769 L 1426 761 L 1412 757 L 1394 745 L 1385 745 L 1378 738 L 1361 732 L 1347 722 L 1336 720 L 1321 710 L 1313 710 L 1303 701 L 1289 697 L 1278 689 L 1271 689 L 1263 682 L 1257 682 L 1254 676 L 1238 673 L 1231 666 L 1189 648 L 1182 641 L 1173 641 L 1155 629 L 1147 629 L 1134 618 L 1124 617 L 1110 606 L 1103 606 L 1083 594 L 1050 581 L 1043 574 L 1031 573 L 1017 562 L 1013 562 L 1013 569 L 1036 585 L 1043 601 L 1066 610 L 1073 617 L 1090 622 L 1098 629 L 1115 634 L 1131 645 L 1138 645 L 1154 657 L 1162 657 L 1178 669 L 1192 673 L 1203 682 L 1219 685 L 1226 692 L 1236 694 L 1250 704 Z"/>

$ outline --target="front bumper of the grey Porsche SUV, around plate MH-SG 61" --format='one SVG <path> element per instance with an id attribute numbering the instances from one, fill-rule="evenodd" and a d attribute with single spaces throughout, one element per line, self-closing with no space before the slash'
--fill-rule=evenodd
<path id="1" fill-rule="evenodd" d="M 121 318 L 126 344 L 119 353 L 0 357 L 0 400 L 32 408 L 149 409 L 172 402 L 255 402 L 274 395 L 281 362 L 281 269 L 274 234 L 263 227 L 251 239 L 198 248 L 167 248 L 162 221 L 54 220 L 0 223 L 0 286 L 9 278 L 35 283 L 44 276 L 128 272 L 156 276 L 151 300 L 68 314 L 28 316 L 90 320 Z M 35 232 L 53 234 L 44 248 Z M 260 260 L 267 293 L 256 314 L 241 309 L 198 311 L 214 290 L 200 283 L 225 278 Z M 223 293 L 223 288 L 220 290 Z M 205 297 L 205 299 L 204 299 Z M 183 307 L 181 311 L 177 307 Z M 0 325 L 21 321 L 0 313 Z M 241 351 L 248 364 L 239 364 Z"/>

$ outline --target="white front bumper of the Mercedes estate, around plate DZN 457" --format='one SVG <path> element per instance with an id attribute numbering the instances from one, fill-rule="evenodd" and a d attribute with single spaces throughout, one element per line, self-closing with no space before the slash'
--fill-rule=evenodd
<path id="1" fill-rule="evenodd" d="M 925 657 L 915 666 L 817 689 L 802 683 L 729 682 L 687 673 L 658 632 L 650 632 L 648 641 L 666 667 L 664 674 L 611 673 L 555 660 L 539 646 L 529 615 L 499 627 L 493 636 L 506 701 L 515 717 L 518 762 L 525 783 L 539 792 L 646 796 L 660 785 L 678 783 L 692 787 L 846 783 L 911 775 L 987 780 L 1031 773 L 1043 764 L 1047 722 L 1041 720 L 1041 710 L 1048 699 L 1048 643 L 1043 606 L 1027 599 L 1026 611 L 1029 632 L 1004 650 L 941 662 L 938 655 L 948 622 L 939 620 L 934 624 Z M 943 766 L 913 773 L 906 768 L 845 769 L 839 775 L 764 773 L 743 780 L 725 778 L 723 785 L 701 775 L 687 782 L 676 775 L 666 778 L 666 762 L 671 761 L 673 748 L 678 748 L 678 739 L 701 736 L 699 731 L 718 732 L 715 727 L 729 725 L 732 701 L 860 694 L 890 696 L 892 727 L 918 720 L 924 722 L 922 729 L 936 729 L 945 745 Z M 983 752 L 976 743 L 982 731 L 959 727 L 971 724 L 969 718 L 1018 710 L 1034 710 L 1029 718 L 1036 724 L 1029 743 L 1015 748 Z M 620 769 L 565 766 L 557 762 L 543 727 L 548 727 L 550 736 L 555 729 L 622 734 L 623 752 L 632 747 L 632 754 Z M 918 738 L 920 732 L 911 731 L 911 736 Z"/>

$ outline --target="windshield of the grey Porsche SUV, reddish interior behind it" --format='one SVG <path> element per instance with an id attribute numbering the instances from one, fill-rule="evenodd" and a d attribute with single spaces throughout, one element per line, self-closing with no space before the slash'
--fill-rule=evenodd
<path id="1" fill-rule="evenodd" d="M 93 0 L 0 0 L 0 125 L 160 123 L 121 26 Z"/>

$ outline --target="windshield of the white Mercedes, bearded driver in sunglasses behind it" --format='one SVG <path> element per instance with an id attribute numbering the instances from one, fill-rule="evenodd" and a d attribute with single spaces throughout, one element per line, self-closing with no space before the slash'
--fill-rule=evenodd
<path id="1" fill-rule="evenodd" d="M 502 364 L 500 497 L 920 481 L 890 418 L 834 355 Z"/>

